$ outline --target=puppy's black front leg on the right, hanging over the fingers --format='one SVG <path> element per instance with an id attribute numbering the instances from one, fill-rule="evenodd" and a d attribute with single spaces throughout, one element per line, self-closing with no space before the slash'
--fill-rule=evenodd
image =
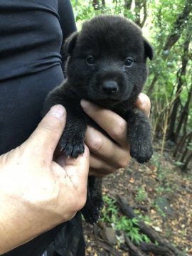
<path id="1" fill-rule="evenodd" d="M 151 124 L 142 111 L 134 109 L 127 113 L 130 154 L 139 163 L 149 161 L 153 154 Z"/>

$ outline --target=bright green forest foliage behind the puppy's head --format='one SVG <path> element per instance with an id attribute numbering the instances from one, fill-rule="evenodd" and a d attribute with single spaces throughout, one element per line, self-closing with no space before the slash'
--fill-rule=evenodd
<path id="1" fill-rule="evenodd" d="M 164 140 L 171 125 L 174 133 L 178 131 L 176 139 L 183 137 L 192 129 L 191 43 L 188 53 L 185 52 L 186 38 L 191 35 L 192 31 L 192 11 L 181 18 L 186 3 L 189 3 L 188 10 L 191 8 L 191 3 L 190 0 L 149 0 L 146 1 L 145 8 L 141 5 L 141 9 L 138 9 L 135 6 L 135 1 L 131 1 L 132 4 L 127 9 L 126 2 L 124 0 L 72 0 L 78 28 L 82 26 L 83 21 L 98 14 L 118 14 L 130 18 L 132 21 L 138 21 L 139 17 L 139 24 L 143 26 L 144 36 L 154 46 L 154 60 L 148 62 L 149 78 L 144 86 L 144 92 L 149 95 L 152 102 L 151 120 L 154 136 L 163 139 L 161 145 L 161 152 L 163 152 Z M 96 8 L 93 3 L 97 3 Z M 144 1 L 140 1 L 140 4 L 143 3 Z M 169 44 L 166 49 L 167 43 L 171 43 L 171 45 Z M 187 60 L 186 70 L 183 70 L 183 60 Z M 181 82 L 181 86 L 177 92 L 179 82 Z M 176 99 L 179 100 L 179 105 L 174 117 L 173 108 Z M 190 103 L 188 109 L 185 110 L 187 117 L 181 120 L 183 107 L 188 99 Z M 174 122 L 171 122 L 173 120 Z M 182 127 L 178 130 L 177 127 L 181 122 Z M 186 146 L 179 151 L 180 154 L 183 153 Z M 191 151 L 191 146 L 188 147 L 188 150 Z"/>

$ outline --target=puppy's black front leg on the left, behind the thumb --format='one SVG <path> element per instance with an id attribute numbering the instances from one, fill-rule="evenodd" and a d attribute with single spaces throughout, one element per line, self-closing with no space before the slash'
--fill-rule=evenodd
<path id="1" fill-rule="evenodd" d="M 64 95 L 61 86 L 48 95 L 43 107 L 43 115 L 50 107 L 57 104 L 63 105 L 67 111 L 65 129 L 60 137 L 58 150 L 63 151 L 66 156 L 77 158 L 85 150 L 84 137 L 87 128 L 85 113 L 80 107 L 80 100 L 71 99 L 67 93 Z"/>

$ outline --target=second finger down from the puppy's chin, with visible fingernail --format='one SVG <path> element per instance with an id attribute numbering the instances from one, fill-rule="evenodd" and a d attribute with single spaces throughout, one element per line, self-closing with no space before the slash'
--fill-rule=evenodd
<path id="1" fill-rule="evenodd" d="M 85 132 L 85 144 L 95 156 L 109 162 L 111 165 L 114 165 L 115 168 L 127 165 L 129 146 L 126 145 L 122 148 L 92 127 L 87 127 Z"/>

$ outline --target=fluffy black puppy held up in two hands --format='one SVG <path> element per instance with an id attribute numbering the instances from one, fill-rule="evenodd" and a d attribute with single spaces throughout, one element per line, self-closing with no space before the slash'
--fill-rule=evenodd
<path id="1" fill-rule="evenodd" d="M 49 93 L 43 108 L 43 115 L 56 104 L 67 110 L 60 150 L 76 158 L 84 151 L 87 125 L 101 130 L 82 111 L 80 100 L 85 99 L 122 116 L 129 124 L 127 144 L 131 156 L 139 163 L 149 161 L 151 125 L 134 104 L 146 80 L 146 58 L 153 58 L 153 49 L 140 28 L 120 16 L 96 16 L 65 41 L 64 53 L 68 55 L 67 78 Z M 91 177 L 87 203 L 82 209 L 85 220 L 95 223 L 101 207 L 101 179 Z"/>

